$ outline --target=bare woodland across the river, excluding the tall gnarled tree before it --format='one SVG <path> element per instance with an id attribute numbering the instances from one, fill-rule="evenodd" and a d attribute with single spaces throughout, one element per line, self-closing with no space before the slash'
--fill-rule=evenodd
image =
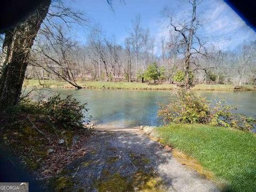
<path id="1" fill-rule="evenodd" d="M 58 39 L 54 45 L 50 40 L 42 40 L 42 44 L 38 45 L 41 46 L 40 51 L 33 52 L 26 78 L 68 79 L 71 82 L 143 82 L 153 80 L 148 74 L 148 70 L 151 70 L 150 73 L 156 73 L 151 76 L 155 76 L 158 83 L 182 83 L 185 76 L 184 57 L 173 48 L 176 42 L 162 39 L 161 55 L 157 55 L 154 53 L 155 39 L 150 36 L 149 30 L 140 27 L 140 20 L 137 22 L 137 27 L 132 23 L 133 30 L 126 38 L 124 47 L 117 44 L 115 39 L 106 39 L 103 31 L 97 28 L 91 30 L 86 45 L 72 41 L 59 31 L 60 34 L 54 34 L 57 37 L 51 37 L 52 41 Z M 139 34 L 139 37 L 136 38 L 135 34 Z M 256 42 L 251 42 L 237 47 L 235 52 L 211 47 L 203 57 L 195 53 L 190 71 L 193 83 L 254 84 L 255 47 Z"/>

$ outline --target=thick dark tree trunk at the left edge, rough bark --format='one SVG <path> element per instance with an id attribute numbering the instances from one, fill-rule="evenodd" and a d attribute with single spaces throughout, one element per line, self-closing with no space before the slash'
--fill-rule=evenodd
<path id="1" fill-rule="evenodd" d="M 44 0 L 26 21 L 6 31 L 0 77 L 0 108 L 19 102 L 31 46 L 49 10 L 51 0 Z"/>

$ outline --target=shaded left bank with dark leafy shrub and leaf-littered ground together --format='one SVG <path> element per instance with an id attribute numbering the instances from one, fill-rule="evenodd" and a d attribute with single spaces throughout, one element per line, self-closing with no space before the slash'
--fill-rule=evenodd
<path id="1" fill-rule="evenodd" d="M 47 188 L 64 167 L 83 157 L 90 150 L 83 144 L 93 127 L 83 123 L 89 121 L 87 110 L 70 95 L 55 95 L 44 101 L 24 99 L 0 111 L 0 151 L 5 158 L 0 170 L 10 167 L 14 171 L 5 176 L 5 182 L 30 175 L 27 182 L 36 180 Z M 1 173 L 1 178 L 6 175 L 6 171 Z"/>

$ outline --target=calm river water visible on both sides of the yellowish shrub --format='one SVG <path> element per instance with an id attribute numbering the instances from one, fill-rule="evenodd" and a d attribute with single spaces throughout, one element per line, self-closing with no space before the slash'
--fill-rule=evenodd
<path id="1" fill-rule="evenodd" d="M 157 102 L 166 102 L 170 91 L 144 90 L 58 90 L 63 94 L 73 94 L 82 103 L 87 102 L 90 115 L 97 124 L 117 127 L 139 125 L 157 126 Z M 256 92 L 198 92 L 207 99 L 227 98 L 232 105 L 240 105 L 239 113 L 250 116 L 256 114 Z"/>

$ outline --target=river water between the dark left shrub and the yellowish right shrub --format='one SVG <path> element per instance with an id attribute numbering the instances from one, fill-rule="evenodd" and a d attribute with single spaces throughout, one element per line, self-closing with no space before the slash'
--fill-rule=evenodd
<path id="1" fill-rule="evenodd" d="M 164 102 L 169 93 L 134 90 L 68 90 L 81 102 L 88 102 L 90 115 L 97 124 L 118 127 L 160 125 L 156 118 L 157 102 Z"/>

